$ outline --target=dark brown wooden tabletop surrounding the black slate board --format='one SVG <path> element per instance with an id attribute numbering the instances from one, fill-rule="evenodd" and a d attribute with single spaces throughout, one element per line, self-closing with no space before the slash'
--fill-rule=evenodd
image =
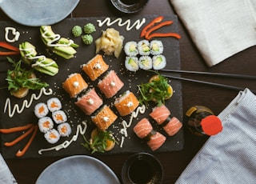
<path id="1" fill-rule="evenodd" d="M 146 8 L 137 13 L 138 15 L 146 14 L 175 14 L 170 2 L 168 0 L 150 1 Z M 70 15 L 71 16 L 71 15 Z M 93 17 L 93 16 L 126 16 L 117 10 L 114 10 L 110 1 L 102 0 L 81 0 L 78 6 L 72 13 L 74 18 L 79 17 Z M 10 21 L 6 14 L 0 11 L 1 21 Z M 198 70 L 210 72 L 223 72 L 232 74 L 256 74 L 256 47 L 251 47 L 247 50 L 238 53 L 226 61 L 221 62 L 217 66 L 208 67 L 203 61 L 194 43 L 190 39 L 182 23 L 179 23 L 179 33 L 182 35 L 180 39 L 180 55 L 182 62 L 182 70 Z M 245 35 L 246 36 L 246 35 Z M 183 77 L 192 78 L 189 74 L 183 74 Z M 216 78 L 216 77 L 198 77 L 200 80 L 207 80 L 210 82 L 222 82 L 233 86 L 248 87 L 251 90 L 256 90 L 255 82 L 252 80 L 230 79 L 230 78 Z M 214 86 L 206 86 L 192 82 L 182 82 L 182 97 L 184 112 L 194 105 L 208 106 L 214 111 L 214 114 L 219 114 L 238 94 L 235 90 L 226 90 Z M 164 168 L 164 183 L 174 183 L 187 164 L 191 161 L 198 150 L 206 142 L 207 138 L 198 138 L 184 130 L 185 146 L 184 149 L 177 152 L 154 154 Z M 118 154 L 114 156 L 95 156 L 96 158 L 105 162 L 118 178 L 121 178 L 122 164 L 129 157 L 129 154 Z M 10 166 L 10 170 L 14 174 L 18 183 L 34 183 L 42 170 L 51 163 L 60 158 L 29 158 L 29 159 L 7 159 L 6 162 Z"/>

